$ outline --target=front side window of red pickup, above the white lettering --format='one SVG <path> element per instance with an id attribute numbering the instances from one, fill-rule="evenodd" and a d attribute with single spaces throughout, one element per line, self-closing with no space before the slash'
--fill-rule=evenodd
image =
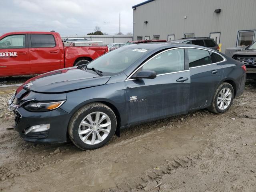
<path id="1" fill-rule="evenodd" d="M 10 35 L 0 40 L 0 49 L 25 48 L 25 34 Z"/>

